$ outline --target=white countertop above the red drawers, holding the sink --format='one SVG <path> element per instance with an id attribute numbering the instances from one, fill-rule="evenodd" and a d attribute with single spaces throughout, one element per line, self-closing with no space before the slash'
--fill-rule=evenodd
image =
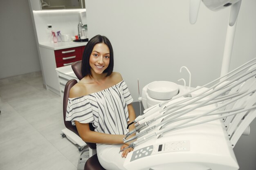
<path id="1" fill-rule="evenodd" d="M 43 42 L 39 43 L 39 46 L 47 48 L 47 49 L 52 49 L 52 50 L 61 50 L 61 49 L 68 49 L 72 47 L 77 47 L 77 46 L 85 46 L 88 42 Z"/>

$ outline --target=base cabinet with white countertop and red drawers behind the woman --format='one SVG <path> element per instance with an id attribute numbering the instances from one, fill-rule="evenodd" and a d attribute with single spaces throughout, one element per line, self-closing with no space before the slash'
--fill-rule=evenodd
<path id="1" fill-rule="evenodd" d="M 60 95 L 55 69 L 82 60 L 86 44 L 87 42 L 46 42 L 39 44 L 42 72 L 47 90 Z"/>

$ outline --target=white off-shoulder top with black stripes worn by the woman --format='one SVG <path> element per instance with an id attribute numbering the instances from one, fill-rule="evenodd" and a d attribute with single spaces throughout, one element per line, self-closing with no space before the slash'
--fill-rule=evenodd
<path id="1" fill-rule="evenodd" d="M 69 98 L 66 121 L 92 123 L 94 131 L 106 134 L 124 135 L 129 121 L 127 105 L 133 101 L 126 82 L 97 93 Z"/>

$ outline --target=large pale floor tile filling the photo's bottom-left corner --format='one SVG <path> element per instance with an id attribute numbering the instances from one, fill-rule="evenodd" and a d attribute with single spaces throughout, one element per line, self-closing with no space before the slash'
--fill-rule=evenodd
<path id="1" fill-rule="evenodd" d="M 0 145 L 0 169 L 18 170 L 56 151 L 39 132 L 32 130 Z"/>

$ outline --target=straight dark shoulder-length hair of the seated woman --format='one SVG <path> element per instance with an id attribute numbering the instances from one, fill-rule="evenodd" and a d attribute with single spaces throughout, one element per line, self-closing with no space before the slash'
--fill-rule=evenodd
<path id="1" fill-rule="evenodd" d="M 90 41 L 86 44 L 85 49 L 83 51 L 83 58 L 82 58 L 82 65 L 81 65 L 81 72 L 82 72 L 83 77 L 85 77 L 87 75 L 92 76 L 89 60 L 90 60 L 90 55 L 92 53 L 93 47 L 98 43 L 106 44 L 110 51 L 110 62 L 109 62 L 108 68 L 106 70 L 104 70 L 103 73 L 107 73 L 106 76 L 109 76 L 113 72 L 114 55 L 113 55 L 112 45 L 111 45 L 110 41 L 108 40 L 108 38 L 106 38 L 105 36 L 96 35 L 90 39 Z"/>

